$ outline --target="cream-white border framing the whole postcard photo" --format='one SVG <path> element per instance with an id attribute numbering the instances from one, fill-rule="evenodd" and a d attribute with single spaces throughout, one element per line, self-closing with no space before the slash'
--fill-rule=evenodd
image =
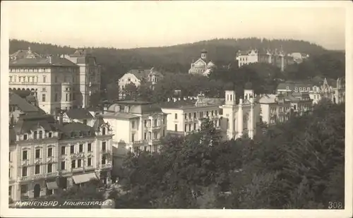
<path id="1" fill-rule="evenodd" d="M 161 2 L 161 4 L 172 4 Z M 59 2 L 56 1 L 56 4 Z M 179 1 L 173 4 L 198 4 L 195 1 Z M 53 4 L 51 1 L 42 1 L 42 4 Z M 82 4 L 82 1 L 60 2 L 60 4 Z M 85 2 L 84 4 L 95 4 Z M 104 4 L 104 1 L 99 1 Z M 146 4 L 143 1 L 126 4 Z M 205 1 L 203 4 L 215 4 Z M 217 4 L 221 4 L 218 2 Z M 352 102 L 352 33 L 353 10 L 350 1 L 222 1 L 222 5 L 229 6 L 275 6 L 275 7 L 346 7 L 346 150 L 345 150 L 345 210 L 59 210 L 59 209 L 8 209 L 8 23 L 11 16 L 6 10 L 8 4 L 1 1 L 1 217 L 352 217 L 352 111 L 349 107 Z M 30 13 L 30 12 L 29 12 Z M 212 13 L 211 13 L 212 14 Z M 13 15 L 16 16 L 16 15 Z M 298 15 L 300 16 L 300 15 Z M 300 24 L 299 24 L 300 25 Z M 347 146 L 351 145 L 351 146 Z M 349 207 L 350 206 L 350 207 Z"/>

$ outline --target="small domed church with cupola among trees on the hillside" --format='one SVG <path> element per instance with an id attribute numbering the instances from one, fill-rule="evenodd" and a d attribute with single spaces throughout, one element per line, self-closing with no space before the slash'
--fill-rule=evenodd
<path id="1" fill-rule="evenodd" d="M 216 68 L 213 61 L 208 60 L 208 52 L 203 49 L 201 57 L 197 61 L 192 61 L 189 73 L 198 75 L 209 75 Z"/>

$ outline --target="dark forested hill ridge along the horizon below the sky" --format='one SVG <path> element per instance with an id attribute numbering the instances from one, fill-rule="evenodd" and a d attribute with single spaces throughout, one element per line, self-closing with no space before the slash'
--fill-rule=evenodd
<path id="1" fill-rule="evenodd" d="M 207 49 L 210 59 L 220 65 L 234 61 L 238 50 L 280 49 L 286 52 L 301 52 L 309 55 L 321 54 L 325 49 L 317 44 L 302 40 L 261 40 L 258 38 L 245 39 L 215 39 L 179 44 L 170 47 L 148 47 L 137 49 L 115 49 L 96 47 L 92 54 L 97 57 L 102 65 L 102 87 L 112 80 L 117 80 L 130 68 L 160 68 L 164 71 L 186 73 L 190 63 L 198 59 L 201 49 Z M 75 51 L 72 47 L 60 47 L 54 44 L 27 42 L 24 40 L 10 40 L 10 54 L 19 49 L 31 47 L 38 54 L 71 54 Z"/>

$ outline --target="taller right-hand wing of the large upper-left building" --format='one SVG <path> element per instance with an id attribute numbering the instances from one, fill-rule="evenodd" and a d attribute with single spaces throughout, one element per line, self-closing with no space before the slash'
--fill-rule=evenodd
<path id="1" fill-rule="evenodd" d="M 95 56 L 87 49 L 77 49 L 70 55 L 63 55 L 62 58 L 68 59 L 79 67 L 78 85 L 80 94 L 78 101 L 82 107 L 90 107 L 91 95 L 100 92 L 100 71 L 101 67 L 97 64 Z"/>

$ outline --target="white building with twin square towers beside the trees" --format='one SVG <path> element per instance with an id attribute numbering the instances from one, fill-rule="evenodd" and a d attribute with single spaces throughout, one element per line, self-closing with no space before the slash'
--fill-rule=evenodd
<path id="1" fill-rule="evenodd" d="M 244 90 L 244 98 L 237 102 L 236 91 L 225 91 L 225 104 L 220 106 L 223 111 L 222 123 L 226 126 L 228 139 L 241 138 L 248 135 L 253 138 L 256 135 L 256 114 L 255 95 L 253 90 Z"/>

